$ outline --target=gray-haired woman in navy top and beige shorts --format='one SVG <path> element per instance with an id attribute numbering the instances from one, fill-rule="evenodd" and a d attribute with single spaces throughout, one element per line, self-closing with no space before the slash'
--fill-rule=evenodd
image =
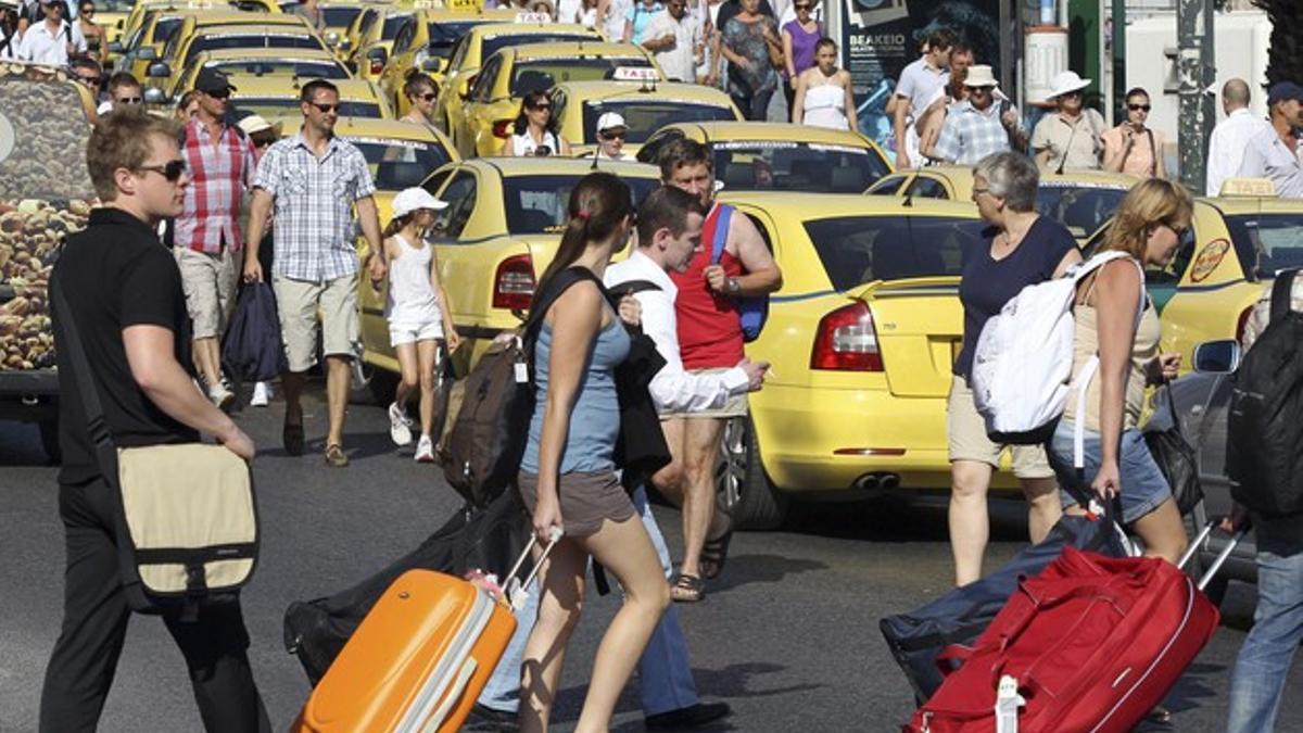
<path id="1" fill-rule="evenodd" d="M 1036 213 L 1040 175 L 1031 158 L 997 153 L 973 167 L 973 203 L 990 224 L 985 237 L 964 252 L 959 300 L 964 307 L 964 343 L 955 359 L 946 410 L 950 454 L 950 549 L 955 584 L 981 578 L 990 522 L 986 490 L 1001 456 L 1012 454 L 1014 476 L 1029 505 L 1033 543 L 1045 539 L 1058 520 L 1058 484 L 1038 445 L 1001 445 L 986 436 L 986 424 L 968 386 L 973 351 L 986 321 L 1024 287 L 1062 275 L 1081 261 L 1076 240 L 1063 224 Z"/>

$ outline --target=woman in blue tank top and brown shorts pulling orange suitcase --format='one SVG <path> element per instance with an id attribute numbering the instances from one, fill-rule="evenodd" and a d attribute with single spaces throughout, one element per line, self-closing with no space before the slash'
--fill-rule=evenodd
<path id="1" fill-rule="evenodd" d="M 586 269 L 595 282 L 581 280 L 556 297 L 541 314 L 534 346 L 537 393 L 520 493 L 541 541 L 554 528 L 564 536 L 539 571 L 538 621 L 525 644 L 520 693 L 525 733 L 547 729 L 589 557 L 619 579 L 624 605 L 598 647 L 576 730 L 610 728 L 615 702 L 670 603 L 661 561 L 615 473 L 620 411 L 614 370 L 628 356 L 629 337 L 599 283 L 632 226 L 629 188 L 611 173 L 589 173 L 571 192 L 560 248 L 539 278 L 538 292 L 571 267 Z"/>

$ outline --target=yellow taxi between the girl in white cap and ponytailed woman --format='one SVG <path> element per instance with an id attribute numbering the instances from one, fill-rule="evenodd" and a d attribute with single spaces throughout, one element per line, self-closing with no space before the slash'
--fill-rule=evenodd
<path id="1" fill-rule="evenodd" d="M 629 185 L 635 201 L 659 185 L 652 166 L 602 167 Z M 590 172 L 592 163 L 575 158 L 476 158 L 444 166 L 422 184 L 448 202 L 429 241 L 452 303 L 452 322 L 466 340 L 452 356 L 459 376 L 469 372 L 494 337 L 521 323 L 534 283 L 560 244 L 569 190 Z M 362 333 L 364 361 L 396 370 L 397 364 L 378 351 L 388 343 L 388 330 L 375 307 L 371 312 L 364 307 Z"/>

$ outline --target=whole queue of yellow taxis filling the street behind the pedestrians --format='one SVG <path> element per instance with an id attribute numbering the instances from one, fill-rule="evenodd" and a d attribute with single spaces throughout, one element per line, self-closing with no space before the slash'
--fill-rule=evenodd
<path id="1" fill-rule="evenodd" d="M 719 90 L 665 82 L 654 59 L 597 31 L 515 10 L 421 0 L 322 0 L 326 31 L 270 0 L 235 4 L 138 0 L 112 50 L 150 98 L 172 102 L 205 67 L 238 87 L 238 113 L 298 124 L 298 87 L 341 89 L 336 133 L 373 167 L 379 210 L 422 185 L 450 206 L 433 237 L 466 346 L 464 374 L 528 310 L 566 220 L 569 189 L 594 167 L 636 196 L 657 185 L 649 164 L 676 138 L 711 149 L 719 197 L 761 231 L 783 269 L 753 359 L 774 365 L 751 415 L 722 446 L 719 486 L 743 526 L 780 522 L 794 496 L 949 485 L 945 403 L 962 338 L 962 252 L 981 241 L 972 176 L 954 167 L 894 171 L 855 132 L 745 123 Z M 116 23 L 117 21 L 109 21 Z M 112 29 L 111 29 L 112 30 Z M 439 85 L 433 125 L 399 123 L 410 69 Z M 638 162 L 496 157 L 534 89 L 551 90 L 558 130 L 584 154 L 595 120 L 627 120 Z M 1038 209 L 1097 247 L 1135 179 L 1049 175 Z M 1277 269 L 1303 263 L 1303 203 L 1272 197 L 1199 200 L 1174 262 L 1149 273 L 1165 348 L 1186 355 L 1233 338 Z M 367 253 L 360 245 L 360 256 Z M 362 363 L 382 387 L 396 370 L 386 293 L 361 290 Z"/>

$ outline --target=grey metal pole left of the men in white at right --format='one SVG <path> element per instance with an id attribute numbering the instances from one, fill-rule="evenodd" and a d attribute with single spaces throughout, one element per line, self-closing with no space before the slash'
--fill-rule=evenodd
<path id="1" fill-rule="evenodd" d="M 1177 94 L 1181 117 L 1177 127 L 1177 157 L 1181 183 L 1203 190 L 1207 180 L 1204 153 L 1214 120 L 1213 100 L 1204 90 L 1213 83 L 1213 8 L 1209 0 L 1177 3 Z"/>

